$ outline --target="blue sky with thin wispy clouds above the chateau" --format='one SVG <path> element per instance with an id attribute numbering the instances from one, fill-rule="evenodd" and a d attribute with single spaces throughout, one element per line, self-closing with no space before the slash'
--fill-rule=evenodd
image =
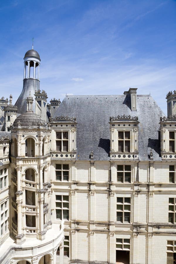
<path id="1" fill-rule="evenodd" d="M 149 94 L 167 114 L 176 89 L 176 0 L 0 1 L 0 97 L 17 100 L 23 57 L 41 58 L 40 89 L 65 94 Z"/>

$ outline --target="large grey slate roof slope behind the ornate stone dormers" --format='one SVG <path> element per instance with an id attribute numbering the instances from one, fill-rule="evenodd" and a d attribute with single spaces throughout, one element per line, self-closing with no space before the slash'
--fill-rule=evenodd
<path id="1" fill-rule="evenodd" d="M 109 117 L 131 115 L 139 118 L 139 159 L 161 160 L 158 129 L 163 111 L 150 95 L 137 95 L 137 111 L 130 109 L 129 95 L 67 96 L 55 113 L 77 119 L 77 159 L 89 160 L 91 150 L 95 160 L 109 160 Z"/>

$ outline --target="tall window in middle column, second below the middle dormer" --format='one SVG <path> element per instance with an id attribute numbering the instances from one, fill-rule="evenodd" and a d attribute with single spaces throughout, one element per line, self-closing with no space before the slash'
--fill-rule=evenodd
<path id="1" fill-rule="evenodd" d="M 131 214 L 131 198 L 130 197 L 117 197 L 116 205 L 117 221 L 130 223 Z"/>

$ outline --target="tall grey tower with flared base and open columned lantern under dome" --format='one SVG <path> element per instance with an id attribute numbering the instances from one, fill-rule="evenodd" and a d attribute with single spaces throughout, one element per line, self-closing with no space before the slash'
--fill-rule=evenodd
<path id="1" fill-rule="evenodd" d="M 35 99 L 35 91 L 40 89 L 39 69 L 40 55 L 32 48 L 24 56 L 23 90 L 15 104 L 18 107 L 19 114 L 26 112 L 26 97 L 29 92 L 31 92 L 33 99 Z M 35 112 L 35 104 L 33 104 L 33 111 Z"/>

